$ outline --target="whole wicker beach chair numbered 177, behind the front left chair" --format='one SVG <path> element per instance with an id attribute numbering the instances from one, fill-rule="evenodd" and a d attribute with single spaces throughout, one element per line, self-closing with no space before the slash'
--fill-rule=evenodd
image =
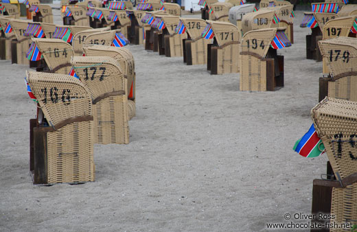
<path id="1" fill-rule="evenodd" d="M 72 65 L 93 98 L 95 143 L 129 143 L 127 80 L 114 58 L 76 56 Z"/>

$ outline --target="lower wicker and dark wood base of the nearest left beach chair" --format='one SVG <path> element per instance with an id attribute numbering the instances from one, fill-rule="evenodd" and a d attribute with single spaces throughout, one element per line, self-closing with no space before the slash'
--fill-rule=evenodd
<path id="1" fill-rule="evenodd" d="M 92 122 L 74 122 L 50 132 L 50 127 L 37 126 L 36 121 L 36 119 L 30 119 L 30 174 L 33 183 L 53 185 L 94 181 L 93 147 L 90 148 L 87 145 L 89 139 L 86 138 L 85 133 L 74 135 L 76 139 L 82 140 L 80 145 L 82 150 L 79 152 L 72 152 L 68 144 L 77 143 L 76 139 L 71 139 L 74 130 L 88 130 Z M 56 147 L 59 146 L 62 146 L 62 149 L 58 154 Z"/>

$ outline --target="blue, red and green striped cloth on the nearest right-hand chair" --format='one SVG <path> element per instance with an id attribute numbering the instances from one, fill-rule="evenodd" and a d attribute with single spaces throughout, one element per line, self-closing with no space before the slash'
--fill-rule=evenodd
<path id="1" fill-rule="evenodd" d="M 295 143 L 292 150 L 295 150 L 295 152 L 301 154 L 301 156 L 309 158 L 319 156 L 325 152 L 325 146 L 323 146 L 321 139 L 317 136 L 314 124 L 312 124 L 309 131 Z"/>

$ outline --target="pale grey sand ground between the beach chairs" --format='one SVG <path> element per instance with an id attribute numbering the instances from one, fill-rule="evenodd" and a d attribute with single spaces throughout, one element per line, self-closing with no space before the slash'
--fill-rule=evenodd
<path id="1" fill-rule="evenodd" d="M 238 73 L 126 46 L 137 73 L 130 144 L 95 145 L 95 182 L 83 185 L 32 184 L 29 68 L 0 60 L 0 231 L 267 231 L 285 213 L 309 213 L 327 157 L 292 146 L 312 124 L 322 63 L 306 60 L 311 30 L 295 14 L 275 92 L 241 92 Z"/>

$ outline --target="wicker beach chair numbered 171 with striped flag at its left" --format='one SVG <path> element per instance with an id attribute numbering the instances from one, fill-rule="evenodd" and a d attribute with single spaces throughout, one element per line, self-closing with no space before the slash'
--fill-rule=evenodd
<path id="1" fill-rule="evenodd" d="M 207 45 L 207 70 L 211 74 L 238 73 L 240 32 L 232 23 L 208 21 L 202 36 L 213 34 L 214 43 Z"/>

